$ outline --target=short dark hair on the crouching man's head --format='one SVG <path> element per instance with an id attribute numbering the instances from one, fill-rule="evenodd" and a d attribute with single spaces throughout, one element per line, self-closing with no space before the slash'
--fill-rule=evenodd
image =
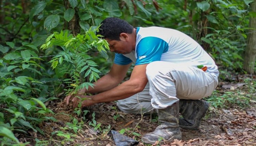
<path id="1" fill-rule="evenodd" d="M 133 26 L 126 21 L 109 17 L 101 22 L 99 32 L 97 34 L 103 36 L 104 39 L 120 40 L 119 36 L 121 33 L 132 34 Z"/>

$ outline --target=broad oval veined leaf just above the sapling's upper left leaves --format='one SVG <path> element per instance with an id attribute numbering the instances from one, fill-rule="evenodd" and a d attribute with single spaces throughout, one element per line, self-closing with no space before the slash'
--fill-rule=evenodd
<path id="1" fill-rule="evenodd" d="M 44 22 L 44 28 L 50 31 L 52 28 L 58 26 L 60 22 L 59 15 L 49 15 Z"/>

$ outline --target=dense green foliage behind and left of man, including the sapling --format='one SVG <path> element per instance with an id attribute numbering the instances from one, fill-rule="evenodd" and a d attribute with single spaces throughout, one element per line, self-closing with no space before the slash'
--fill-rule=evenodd
<path id="1" fill-rule="evenodd" d="M 178 29 L 215 59 L 220 79 L 242 72 L 252 0 L 1 0 L 0 141 L 41 131 L 56 120 L 44 103 L 92 86 L 109 70 L 113 54 L 95 35 L 100 22 L 120 17 L 134 27 Z M 107 61 L 106 61 L 107 60 Z M 80 111 L 81 112 L 81 111 Z M 80 114 L 78 113 L 78 115 Z"/>

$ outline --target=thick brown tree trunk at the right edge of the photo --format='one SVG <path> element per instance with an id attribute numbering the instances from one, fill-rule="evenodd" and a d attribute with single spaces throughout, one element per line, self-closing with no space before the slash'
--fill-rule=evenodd
<path id="1" fill-rule="evenodd" d="M 251 11 L 256 12 L 256 0 L 251 3 Z M 254 73 L 255 58 L 256 58 L 256 18 L 250 17 L 249 34 L 247 35 L 247 47 L 244 56 L 244 70 L 249 74 Z"/>

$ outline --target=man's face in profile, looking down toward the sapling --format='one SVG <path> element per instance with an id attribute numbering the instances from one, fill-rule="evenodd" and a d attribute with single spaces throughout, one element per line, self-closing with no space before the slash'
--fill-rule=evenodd
<path id="1" fill-rule="evenodd" d="M 106 39 L 109 43 L 109 48 L 111 52 L 119 54 L 129 54 L 133 50 L 133 45 L 128 38 L 120 36 L 120 41 Z"/>

